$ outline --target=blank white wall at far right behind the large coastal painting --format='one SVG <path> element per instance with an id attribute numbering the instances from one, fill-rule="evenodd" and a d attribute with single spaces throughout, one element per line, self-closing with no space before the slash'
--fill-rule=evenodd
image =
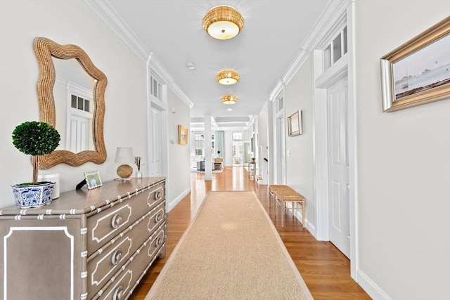
<path id="1" fill-rule="evenodd" d="M 356 1 L 359 268 L 391 299 L 450 299 L 450 100 L 382 112 L 381 56 L 449 1 Z"/>

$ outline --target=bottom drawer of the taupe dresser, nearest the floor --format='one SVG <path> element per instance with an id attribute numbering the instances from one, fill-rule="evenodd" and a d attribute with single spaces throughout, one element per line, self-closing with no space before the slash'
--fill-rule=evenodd
<path id="1" fill-rule="evenodd" d="M 142 273 L 157 259 L 155 254 L 165 244 L 165 228 L 162 226 L 150 237 L 146 243 L 141 245 L 120 270 L 114 275 L 114 282 L 105 286 L 104 290 L 98 292 L 94 299 L 119 300 L 127 299 L 130 290 L 136 285 Z M 110 283 L 110 282 L 108 282 Z M 91 297 L 91 294 L 89 294 Z"/>

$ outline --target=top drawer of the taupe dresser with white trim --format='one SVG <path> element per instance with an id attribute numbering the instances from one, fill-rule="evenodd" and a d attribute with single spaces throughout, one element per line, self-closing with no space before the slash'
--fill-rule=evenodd
<path id="1" fill-rule="evenodd" d="M 98 214 L 87 219 L 88 256 L 164 200 L 165 189 L 160 184 L 112 202 L 108 209 L 98 209 Z"/>

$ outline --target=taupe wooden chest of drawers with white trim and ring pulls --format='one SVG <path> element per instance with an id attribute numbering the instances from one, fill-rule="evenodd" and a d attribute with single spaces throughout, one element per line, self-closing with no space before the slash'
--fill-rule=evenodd
<path id="1" fill-rule="evenodd" d="M 165 255 L 165 178 L 0 209 L 0 299 L 127 299 Z"/>

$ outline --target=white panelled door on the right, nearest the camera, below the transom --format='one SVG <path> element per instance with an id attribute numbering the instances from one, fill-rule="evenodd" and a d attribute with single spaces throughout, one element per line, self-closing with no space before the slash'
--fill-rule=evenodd
<path id="1" fill-rule="evenodd" d="M 330 242 L 350 257 L 347 78 L 327 92 Z"/>

